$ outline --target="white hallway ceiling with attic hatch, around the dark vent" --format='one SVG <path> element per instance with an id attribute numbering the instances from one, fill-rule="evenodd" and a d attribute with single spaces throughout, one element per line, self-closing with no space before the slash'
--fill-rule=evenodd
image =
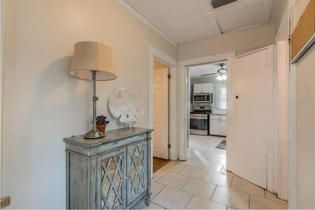
<path id="1" fill-rule="evenodd" d="M 211 0 L 124 1 L 176 44 L 272 24 L 280 4 L 280 0 L 237 0 L 213 9 Z"/>

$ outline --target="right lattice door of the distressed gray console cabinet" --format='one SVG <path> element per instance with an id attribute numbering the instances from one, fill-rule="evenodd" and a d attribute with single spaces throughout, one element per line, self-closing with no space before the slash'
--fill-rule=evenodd
<path id="1" fill-rule="evenodd" d="M 127 204 L 147 190 L 147 142 L 127 147 Z"/>

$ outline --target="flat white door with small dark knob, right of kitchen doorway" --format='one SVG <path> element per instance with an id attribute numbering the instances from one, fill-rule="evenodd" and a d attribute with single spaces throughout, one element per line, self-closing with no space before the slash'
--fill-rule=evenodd
<path id="1" fill-rule="evenodd" d="M 266 189 L 267 50 L 234 61 L 233 173 Z"/>

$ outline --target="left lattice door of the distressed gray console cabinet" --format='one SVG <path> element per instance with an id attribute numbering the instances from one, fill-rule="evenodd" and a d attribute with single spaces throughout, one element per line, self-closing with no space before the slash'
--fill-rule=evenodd
<path id="1" fill-rule="evenodd" d="M 126 207 L 126 148 L 101 157 L 101 209 Z"/>

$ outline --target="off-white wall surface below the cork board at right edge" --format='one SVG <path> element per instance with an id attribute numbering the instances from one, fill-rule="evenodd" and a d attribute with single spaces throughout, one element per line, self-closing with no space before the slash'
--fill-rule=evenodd
<path id="1" fill-rule="evenodd" d="M 296 63 L 296 208 L 315 209 L 315 45 Z M 307 86 L 305 88 L 305 86 Z M 305 90 L 307 89 L 307 90 Z M 306 100 L 304 100 L 306 96 Z"/>

